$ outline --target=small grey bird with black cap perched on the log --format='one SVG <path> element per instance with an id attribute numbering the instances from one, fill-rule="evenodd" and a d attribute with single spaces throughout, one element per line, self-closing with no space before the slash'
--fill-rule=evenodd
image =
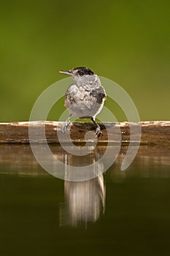
<path id="1" fill-rule="evenodd" d="M 95 118 L 103 108 L 104 100 L 107 97 L 100 79 L 87 67 L 75 67 L 69 71 L 62 70 L 60 72 L 70 75 L 74 81 L 66 90 L 64 105 L 69 110 L 69 118 L 63 124 L 61 132 L 66 132 L 71 116 L 75 116 L 77 118 L 90 118 L 96 124 L 96 136 L 99 137 L 102 132 Z"/>

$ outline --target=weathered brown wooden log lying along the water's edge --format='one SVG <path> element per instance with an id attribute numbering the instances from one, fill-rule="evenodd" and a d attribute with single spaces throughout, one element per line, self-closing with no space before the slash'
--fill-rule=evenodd
<path id="1" fill-rule="evenodd" d="M 143 145 L 158 145 L 170 146 L 170 121 L 142 121 L 141 144 Z M 41 131 L 45 127 L 47 143 L 59 143 L 58 134 L 63 125 L 63 122 L 58 121 L 32 121 L 32 122 L 12 122 L 0 123 L 0 143 L 29 143 L 28 126 L 34 131 L 34 143 L 43 143 Z M 122 143 L 128 145 L 130 141 L 130 129 L 128 122 L 104 123 L 100 124 L 103 135 L 98 138 L 98 143 Z M 133 127 L 133 138 L 138 132 L 135 132 L 135 123 L 131 123 Z M 107 129 L 112 135 L 108 140 Z M 85 133 L 95 132 L 95 126 L 92 123 L 73 122 L 70 126 L 70 134 L 74 143 L 85 143 Z M 61 140 L 67 143 L 66 132 Z M 120 137 L 121 135 L 121 137 Z M 91 139 L 89 139 L 91 141 Z M 134 143 L 139 141 L 133 140 Z"/>

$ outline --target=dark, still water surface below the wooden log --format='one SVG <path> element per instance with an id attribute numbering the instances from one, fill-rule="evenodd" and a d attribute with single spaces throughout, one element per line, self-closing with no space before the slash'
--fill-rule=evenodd
<path id="1" fill-rule="evenodd" d="M 54 146 L 55 147 L 55 146 Z M 0 146 L 0 255 L 169 255 L 169 151 L 141 147 L 120 171 L 63 181 L 29 146 Z"/>

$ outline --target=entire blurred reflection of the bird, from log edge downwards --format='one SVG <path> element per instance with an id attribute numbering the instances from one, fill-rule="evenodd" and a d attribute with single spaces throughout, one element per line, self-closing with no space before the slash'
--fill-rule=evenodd
<path id="1" fill-rule="evenodd" d="M 68 165 L 91 165 L 102 156 L 104 152 L 96 147 L 90 154 L 79 157 L 65 152 L 63 162 Z M 69 169 L 69 168 L 68 168 Z M 101 173 L 96 178 L 87 181 L 64 181 L 64 203 L 61 208 L 60 225 L 72 227 L 87 226 L 89 222 L 96 222 L 105 210 L 105 185 L 102 175 L 104 165 L 97 162 L 93 172 Z M 67 173 L 67 172 L 66 172 Z M 67 173 L 67 176 L 69 173 Z M 70 174 L 72 175 L 72 174 Z"/>

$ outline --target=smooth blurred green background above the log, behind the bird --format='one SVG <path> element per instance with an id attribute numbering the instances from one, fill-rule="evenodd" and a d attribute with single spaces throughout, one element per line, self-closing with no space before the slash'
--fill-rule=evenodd
<path id="1" fill-rule="evenodd" d="M 0 121 L 28 120 L 39 94 L 65 78 L 58 71 L 77 66 L 120 84 L 142 120 L 169 120 L 169 10 L 169 0 L 1 1 Z M 49 119 L 63 99 L 58 109 Z"/>

